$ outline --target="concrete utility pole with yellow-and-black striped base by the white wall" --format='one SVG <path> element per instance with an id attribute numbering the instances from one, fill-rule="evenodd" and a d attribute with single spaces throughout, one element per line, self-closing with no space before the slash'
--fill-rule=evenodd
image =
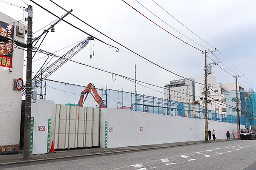
<path id="1" fill-rule="evenodd" d="M 206 50 L 204 51 L 204 127 L 205 141 L 208 141 L 208 108 L 207 108 L 207 59 Z"/>

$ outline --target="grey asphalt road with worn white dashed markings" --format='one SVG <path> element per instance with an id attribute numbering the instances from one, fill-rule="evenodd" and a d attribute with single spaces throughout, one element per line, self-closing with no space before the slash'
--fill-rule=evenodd
<path id="1" fill-rule="evenodd" d="M 256 140 L 210 142 L 74 159 L 13 164 L 3 170 L 243 170 L 256 161 Z"/>

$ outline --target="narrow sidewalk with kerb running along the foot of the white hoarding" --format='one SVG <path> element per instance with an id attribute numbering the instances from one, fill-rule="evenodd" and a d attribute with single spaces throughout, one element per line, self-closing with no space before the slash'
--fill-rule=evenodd
<path id="1" fill-rule="evenodd" d="M 238 139 L 230 139 L 238 140 Z M 209 142 L 223 142 L 227 141 L 226 139 L 216 139 L 215 141 L 211 140 Z M 100 148 L 100 147 L 90 147 L 90 148 L 77 148 L 70 150 L 55 150 L 56 153 L 46 153 L 41 155 L 31 155 L 30 160 L 23 160 L 23 153 L 16 155 L 0 155 L 0 166 L 9 165 L 9 164 L 19 164 L 26 162 L 36 162 L 36 161 L 47 161 L 54 159 L 65 159 L 65 158 L 75 158 L 81 156 L 93 156 L 93 155 L 102 155 L 108 153 L 122 153 L 136 150 L 147 150 L 147 149 L 157 149 L 165 147 L 175 147 L 188 144 L 199 144 L 207 143 L 205 141 L 191 141 L 191 142 L 177 142 L 177 143 L 166 143 L 166 144 L 151 144 L 151 145 L 142 145 L 142 146 L 131 146 L 131 147 L 117 147 L 117 148 Z"/>

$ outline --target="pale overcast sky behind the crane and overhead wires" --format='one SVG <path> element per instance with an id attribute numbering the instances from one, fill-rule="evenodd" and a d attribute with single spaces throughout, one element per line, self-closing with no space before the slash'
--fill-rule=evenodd
<path id="1" fill-rule="evenodd" d="M 38 37 L 43 31 L 38 30 L 57 18 L 31 1 L 23 1 L 33 6 L 33 32 L 36 32 L 33 37 Z M 9 0 L 8 2 L 27 7 L 23 1 Z M 130 50 L 186 78 L 204 76 L 204 54 L 202 51 L 208 51 L 208 49 L 214 51 L 216 48 L 219 52 L 207 53 L 208 56 L 215 62 L 221 62 L 218 65 L 231 74 L 213 65 L 212 72 L 215 73 L 218 83 L 235 82 L 232 75 L 244 74 L 244 77 L 239 77 L 238 81 L 246 88 L 256 87 L 254 76 L 256 60 L 255 0 L 125 0 L 137 11 L 184 42 L 156 26 L 122 0 L 53 1 L 67 10 L 73 9 L 72 14 Z M 58 16 L 66 13 L 49 0 L 35 0 L 35 2 Z M 15 20 L 25 18 L 26 12 L 22 8 L 6 4 L 2 0 L 0 0 L 0 5 L 0 11 Z M 137 80 L 161 87 L 169 84 L 171 80 L 182 79 L 133 54 L 75 17 L 68 15 L 64 20 L 120 50 L 116 52 L 115 48 L 109 48 L 110 46 L 95 40 L 95 55 L 92 59 L 89 57 L 92 48 L 88 44 L 72 58 L 73 60 L 130 78 L 135 78 L 134 66 L 136 65 Z M 54 33 L 47 34 L 40 48 L 55 52 L 86 37 L 88 37 L 87 34 L 62 21 L 55 26 Z M 67 47 L 56 54 L 62 56 L 72 47 Z M 39 60 L 33 62 L 33 72 L 37 72 L 41 68 L 47 59 L 44 56 L 44 54 L 35 55 L 33 60 Z M 40 59 L 41 57 L 44 58 Z M 57 58 L 52 60 L 54 59 Z M 212 61 L 208 58 L 207 63 L 212 63 Z M 24 67 L 24 71 L 26 71 L 26 67 Z M 25 75 L 24 80 L 26 79 Z M 96 88 L 103 87 L 105 89 L 108 86 L 114 90 L 123 88 L 128 92 L 135 91 L 135 84 L 131 81 L 114 76 L 115 81 L 113 82 L 112 74 L 74 62 L 65 63 L 48 78 L 84 86 L 93 83 Z M 49 86 L 52 88 L 47 88 L 47 99 L 59 104 L 77 103 L 80 92 L 84 90 L 81 87 L 52 82 L 49 82 Z M 163 92 L 161 88 L 146 86 Z M 63 91 L 58 91 L 56 88 Z M 137 93 L 163 97 L 162 93 L 149 88 L 137 85 Z"/>

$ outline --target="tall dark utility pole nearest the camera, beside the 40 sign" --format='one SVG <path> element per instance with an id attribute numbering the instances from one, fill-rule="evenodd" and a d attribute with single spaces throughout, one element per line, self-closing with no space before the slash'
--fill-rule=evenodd
<path id="1" fill-rule="evenodd" d="M 30 159 L 30 131 L 31 131 L 31 89 L 32 89 L 32 17 L 33 8 L 28 6 L 28 35 L 27 35 L 27 67 L 26 67 L 26 101 L 25 101 L 25 129 L 23 159 Z"/>

